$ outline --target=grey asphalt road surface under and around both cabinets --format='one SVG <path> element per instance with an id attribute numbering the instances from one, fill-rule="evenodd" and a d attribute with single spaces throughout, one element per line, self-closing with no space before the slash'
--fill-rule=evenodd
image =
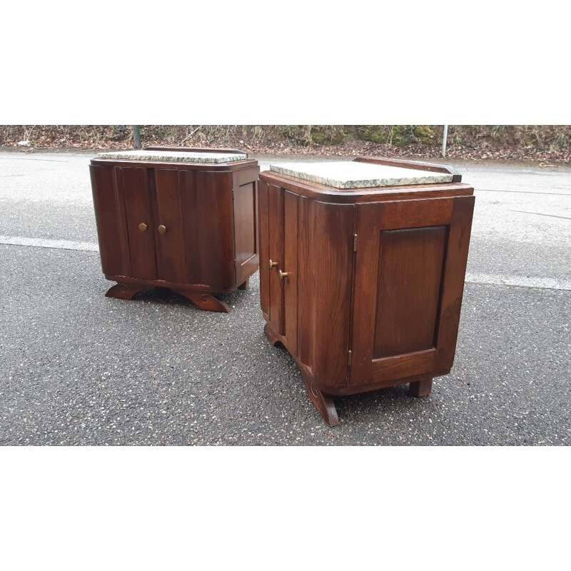
<path id="1" fill-rule="evenodd" d="M 476 188 L 452 373 L 335 398 L 329 428 L 263 334 L 258 274 L 228 314 L 105 297 L 93 156 L 0 152 L 1 445 L 571 443 L 571 168 L 449 161 Z"/>

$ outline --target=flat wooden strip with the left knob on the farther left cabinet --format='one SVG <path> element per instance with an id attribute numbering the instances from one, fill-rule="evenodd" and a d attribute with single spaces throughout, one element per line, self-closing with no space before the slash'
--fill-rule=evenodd
<path id="1" fill-rule="evenodd" d="M 132 277 L 154 280 L 153 200 L 146 168 L 121 168 L 118 179 L 123 187 Z M 141 231 L 140 224 L 146 224 L 146 230 Z"/>

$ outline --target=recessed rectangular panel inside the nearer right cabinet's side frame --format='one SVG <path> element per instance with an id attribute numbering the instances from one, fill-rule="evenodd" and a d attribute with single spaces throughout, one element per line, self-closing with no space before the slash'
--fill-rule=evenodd
<path id="1" fill-rule="evenodd" d="M 446 226 L 380 233 L 373 358 L 435 346 Z"/>

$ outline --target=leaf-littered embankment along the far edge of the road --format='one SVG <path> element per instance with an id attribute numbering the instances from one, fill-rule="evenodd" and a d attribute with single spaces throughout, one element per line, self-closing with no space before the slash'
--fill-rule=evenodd
<path id="1" fill-rule="evenodd" d="M 141 125 L 143 147 L 218 146 L 252 153 L 441 156 L 441 125 Z M 0 148 L 133 148 L 130 125 L 0 126 Z M 571 163 L 571 126 L 450 125 L 447 156 Z"/>

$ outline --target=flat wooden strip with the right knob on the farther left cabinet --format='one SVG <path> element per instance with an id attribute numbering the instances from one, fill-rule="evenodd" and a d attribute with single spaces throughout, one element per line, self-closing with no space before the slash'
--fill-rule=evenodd
<path id="1" fill-rule="evenodd" d="M 157 244 L 158 276 L 165 281 L 185 283 L 186 248 L 179 171 L 156 169 L 155 184 L 157 216 L 152 231 Z M 158 226 L 165 226 L 166 232 L 159 233 Z"/>

